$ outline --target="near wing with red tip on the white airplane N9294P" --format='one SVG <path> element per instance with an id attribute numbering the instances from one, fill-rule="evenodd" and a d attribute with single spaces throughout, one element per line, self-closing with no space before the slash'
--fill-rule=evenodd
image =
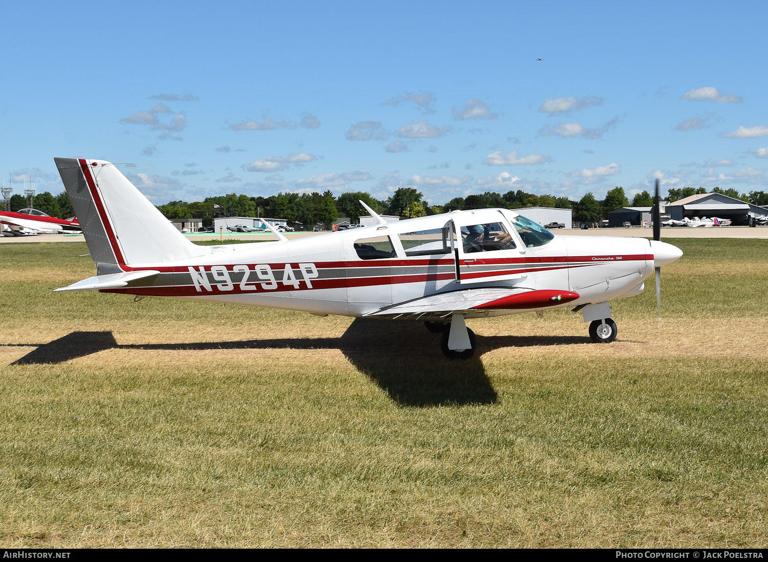
<path id="1" fill-rule="evenodd" d="M 552 307 L 574 301 L 578 293 L 571 291 L 536 291 L 528 288 L 481 287 L 430 294 L 412 301 L 383 307 L 365 316 L 412 316 L 422 314 L 469 313 L 492 310 L 525 310 Z"/>

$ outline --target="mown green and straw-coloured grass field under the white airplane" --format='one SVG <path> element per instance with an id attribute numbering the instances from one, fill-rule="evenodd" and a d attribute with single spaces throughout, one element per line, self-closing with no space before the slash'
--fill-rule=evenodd
<path id="1" fill-rule="evenodd" d="M 0 545 L 766 547 L 768 241 L 614 301 L 422 324 L 90 291 L 0 247 Z"/>

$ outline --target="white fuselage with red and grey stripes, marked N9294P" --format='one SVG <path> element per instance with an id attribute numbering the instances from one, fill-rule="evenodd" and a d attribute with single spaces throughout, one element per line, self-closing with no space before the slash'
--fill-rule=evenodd
<path id="1" fill-rule="evenodd" d="M 209 255 L 173 265 L 100 265 L 99 274 L 150 269 L 151 281 L 135 281 L 105 292 L 286 308 L 314 314 L 360 317 L 393 304 L 430 294 L 477 287 L 532 291 L 571 291 L 575 301 L 546 306 L 478 311 L 494 316 L 575 306 L 629 297 L 643 290 L 654 268 L 654 251 L 644 238 L 593 238 L 551 235 L 541 245 L 526 245 L 511 227 L 515 213 L 504 209 L 454 212 L 387 225 L 332 232 L 286 242 L 216 246 Z M 462 232 L 468 224 L 492 224 L 508 232 L 512 244 L 471 251 L 455 235 L 448 248 L 409 251 L 406 245 L 434 242 L 429 234 L 446 226 Z M 444 231 L 445 232 L 445 231 Z M 406 235 L 409 233 L 409 235 Z M 405 236 L 404 236 L 405 235 Z M 362 254 L 360 247 L 386 245 L 386 252 Z M 450 241 L 448 241 L 450 242 Z M 391 250 L 389 248 L 392 248 Z M 415 248 L 421 248 L 421 245 Z M 412 247 L 414 248 L 414 247 Z M 417 255 L 409 255 L 414 254 Z M 119 268 L 119 269 L 118 269 Z M 421 317 L 421 316 L 419 316 Z"/>

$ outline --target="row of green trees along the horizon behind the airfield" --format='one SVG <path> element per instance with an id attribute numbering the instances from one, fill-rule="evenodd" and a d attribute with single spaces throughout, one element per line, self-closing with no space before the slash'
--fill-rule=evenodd
<path id="1" fill-rule="evenodd" d="M 674 202 L 685 197 L 706 193 L 703 187 L 670 188 L 667 201 Z M 735 199 L 749 201 L 753 205 L 768 205 L 768 193 L 751 191 L 739 193 L 736 189 L 720 189 L 715 187 L 713 192 L 723 193 Z M 554 207 L 557 209 L 573 209 L 574 220 L 579 222 L 597 222 L 601 215 L 621 207 L 650 207 L 653 196 L 644 191 L 637 193 L 630 202 L 624 188 L 617 186 L 608 191 L 604 199 L 595 198 L 593 193 L 587 193 L 578 201 L 568 197 L 552 195 L 535 195 L 518 189 L 508 191 L 503 195 L 497 192 L 485 192 L 466 197 L 455 197 L 445 205 L 430 205 L 424 199 L 424 194 L 413 187 L 401 187 L 386 200 L 373 198 L 368 192 L 346 192 L 336 197 L 333 192 L 326 191 L 311 193 L 279 192 L 270 197 L 249 197 L 242 194 L 230 193 L 226 196 L 207 197 L 203 201 L 186 202 L 170 201 L 159 205 L 157 209 L 168 219 L 200 219 L 204 225 L 212 225 L 219 217 L 269 217 L 299 222 L 311 228 L 318 223 L 332 223 L 339 217 L 346 217 L 351 222 L 359 222 L 362 215 L 368 215 L 359 201 L 366 202 L 371 209 L 382 215 L 397 215 L 404 219 L 434 215 L 456 209 L 486 209 L 501 207 L 502 209 L 525 209 L 526 207 Z M 18 211 L 28 207 L 28 199 L 15 194 L 11 197 L 11 210 Z M 60 219 L 74 216 L 67 192 L 58 196 L 50 192 L 38 193 L 32 199 L 32 206 L 48 215 Z"/>

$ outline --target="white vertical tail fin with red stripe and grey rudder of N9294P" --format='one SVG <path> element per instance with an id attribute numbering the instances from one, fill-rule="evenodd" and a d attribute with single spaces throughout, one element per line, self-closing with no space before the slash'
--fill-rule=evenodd
<path id="1" fill-rule="evenodd" d="M 205 254 L 174 227 L 114 164 L 55 158 L 94 261 L 146 264 Z"/>

